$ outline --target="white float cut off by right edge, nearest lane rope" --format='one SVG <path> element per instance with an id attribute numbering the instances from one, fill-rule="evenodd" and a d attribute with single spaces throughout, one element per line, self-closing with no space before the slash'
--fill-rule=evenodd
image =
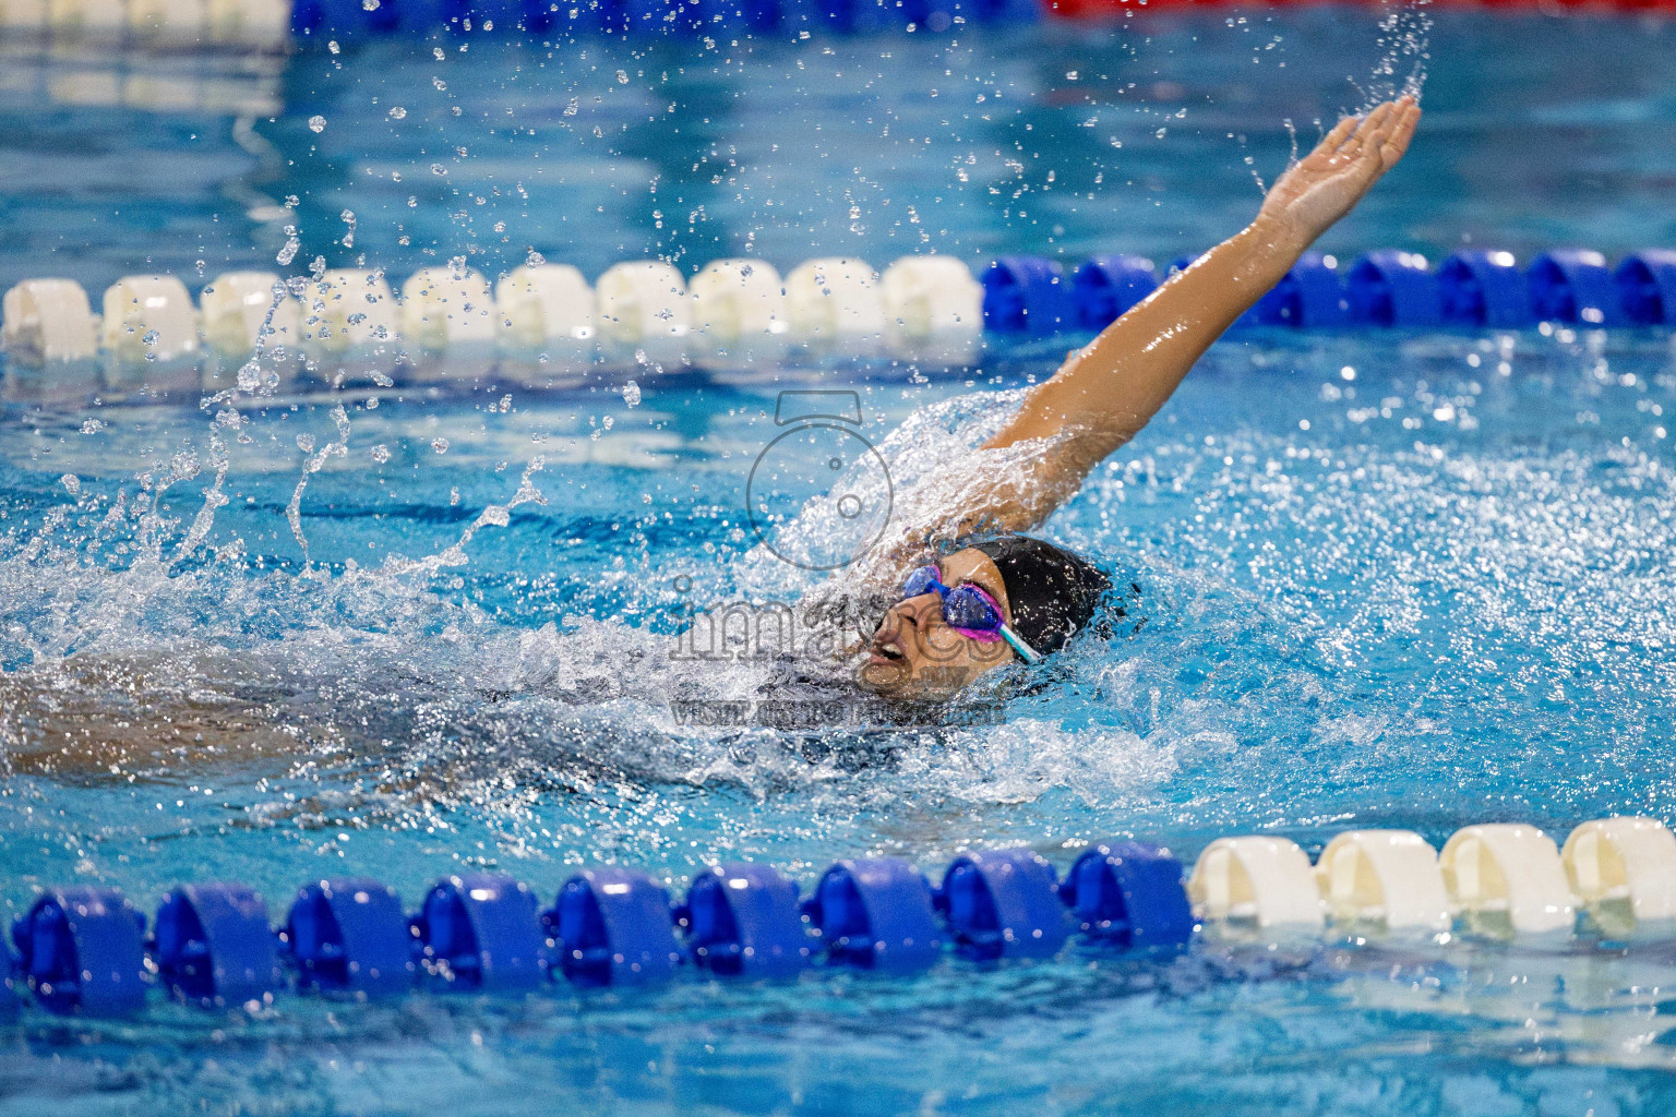
<path id="1" fill-rule="evenodd" d="M 1676 933 L 1676 836 L 1658 819 L 1584 822 L 1560 851 L 1601 934 L 1632 941 Z"/>

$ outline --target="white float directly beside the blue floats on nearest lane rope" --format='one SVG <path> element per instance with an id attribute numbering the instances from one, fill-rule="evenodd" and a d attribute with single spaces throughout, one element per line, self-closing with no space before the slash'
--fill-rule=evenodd
<path id="1" fill-rule="evenodd" d="M 1187 881 L 1193 914 L 1247 933 L 1317 931 L 1321 891 L 1309 854 L 1285 837 L 1218 837 Z"/>

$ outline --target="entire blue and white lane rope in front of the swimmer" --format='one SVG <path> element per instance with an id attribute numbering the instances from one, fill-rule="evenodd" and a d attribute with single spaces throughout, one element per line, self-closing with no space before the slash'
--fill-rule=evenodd
<path id="1" fill-rule="evenodd" d="M 1441 857 L 1411 831 L 1337 834 L 1314 866 L 1284 837 L 1222 837 L 1183 884 L 1168 851 L 1101 841 L 1064 879 L 1027 847 L 957 857 L 932 889 L 912 864 L 833 864 L 808 903 L 764 864 L 722 864 L 694 878 L 680 906 L 635 869 L 572 876 L 538 913 L 511 876 L 436 883 L 412 919 L 369 879 L 302 888 L 282 929 L 238 884 L 188 884 L 144 916 L 111 888 L 62 888 L 13 924 L 0 948 L 0 1013 L 27 996 L 52 1013 L 121 1015 L 161 985 L 210 1010 L 266 1003 L 282 988 L 357 998 L 411 991 L 523 995 L 575 986 L 659 985 L 694 963 L 717 978 L 796 978 L 831 966 L 912 975 L 954 953 L 980 963 L 1053 958 L 1073 931 L 1103 951 L 1153 956 L 1197 933 L 1294 941 L 1466 934 L 1569 950 L 1592 934 L 1609 948 L 1676 943 L 1676 836 L 1648 817 L 1582 822 L 1564 849 L 1522 824 L 1466 826 Z M 677 943 L 680 928 L 685 945 Z M 147 956 L 149 953 L 149 956 Z M 288 963 L 282 980 L 275 958 Z M 156 975 L 156 981 L 147 978 Z"/>

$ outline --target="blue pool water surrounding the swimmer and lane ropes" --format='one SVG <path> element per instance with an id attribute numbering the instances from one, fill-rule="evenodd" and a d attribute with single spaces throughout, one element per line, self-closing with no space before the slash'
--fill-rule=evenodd
<path id="1" fill-rule="evenodd" d="M 1676 241 L 1673 39 L 1440 13 L 1425 131 L 1324 246 Z M 272 266 L 285 224 L 298 265 L 394 276 L 453 256 L 493 276 L 531 248 L 590 276 L 927 245 L 1166 260 L 1250 214 L 1245 156 L 1272 176 L 1284 119 L 1312 134 L 1386 55 L 1410 65 L 1359 10 L 461 45 L 7 49 L 0 280 L 196 285 Z M 365 872 L 412 903 L 471 866 L 550 896 L 587 862 L 679 886 L 737 856 L 806 886 L 880 851 L 937 869 L 1027 842 L 1064 866 L 1104 836 L 1190 859 L 1250 831 L 1319 851 L 1353 826 L 1438 844 L 1671 817 L 1676 368 L 1651 332 L 1229 340 L 1046 529 L 1141 586 L 1138 633 L 1074 646 L 996 725 L 682 723 L 670 698 L 784 685 L 674 660 L 687 606 L 815 584 L 744 524 L 779 389 L 856 390 L 912 489 L 1071 343 L 563 392 L 484 367 L 236 412 L 45 405 L 5 368 L 0 914 L 59 881 L 151 911 L 238 879 L 282 908 Z M 1666 1114 L 1673 985 L 1661 950 L 1200 945 L 902 983 L 28 1011 L 0 1023 L 0 1112 Z"/>

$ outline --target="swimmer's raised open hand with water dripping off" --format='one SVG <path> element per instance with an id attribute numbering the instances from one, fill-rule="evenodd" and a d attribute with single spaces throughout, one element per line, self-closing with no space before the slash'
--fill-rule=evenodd
<path id="1" fill-rule="evenodd" d="M 1418 124 L 1420 106 L 1413 97 L 1386 100 L 1363 117 L 1344 117 L 1275 181 L 1257 214 L 1259 226 L 1269 224 L 1309 245 L 1396 166 Z"/>

